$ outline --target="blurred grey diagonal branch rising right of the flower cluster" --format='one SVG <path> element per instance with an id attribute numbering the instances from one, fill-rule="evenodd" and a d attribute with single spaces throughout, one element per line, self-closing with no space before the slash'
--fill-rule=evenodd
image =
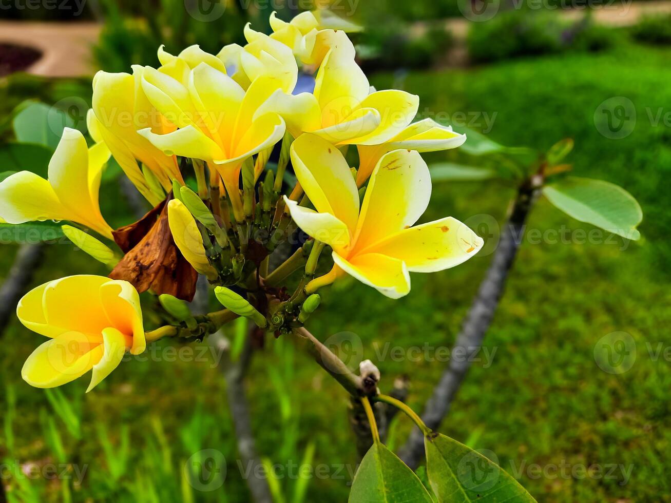
<path id="1" fill-rule="evenodd" d="M 433 394 L 426 402 L 421 418 L 432 430 L 440 427 L 443 418 L 450 411 L 450 404 L 470 368 L 471 356 L 480 350 L 484 335 L 492 323 L 499 300 L 501 300 L 508 272 L 515 261 L 527 215 L 539 191 L 540 186 L 537 180 L 530 179 L 517 192 L 492 262 L 454 343 L 454 348 L 460 348 L 466 357 L 459 358 L 459 361 L 450 358 L 450 363 L 444 370 L 440 382 L 433 388 Z M 452 353 L 454 354 L 454 349 Z M 413 428 L 409 439 L 399 452 L 399 457 L 412 469 L 417 468 L 424 457 L 424 436 L 419 429 Z"/>

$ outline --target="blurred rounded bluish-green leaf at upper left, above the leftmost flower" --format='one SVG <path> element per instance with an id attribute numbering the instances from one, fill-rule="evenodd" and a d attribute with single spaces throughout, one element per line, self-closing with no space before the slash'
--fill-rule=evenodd
<path id="1" fill-rule="evenodd" d="M 55 150 L 64 127 L 74 127 L 74 121 L 56 107 L 34 102 L 15 115 L 13 127 L 19 142 L 44 145 Z"/>

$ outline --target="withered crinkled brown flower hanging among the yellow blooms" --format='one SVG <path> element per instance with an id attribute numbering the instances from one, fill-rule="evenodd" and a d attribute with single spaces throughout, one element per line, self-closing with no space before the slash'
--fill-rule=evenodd
<path id="1" fill-rule="evenodd" d="M 109 274 L 130 282 L 138 292 L 150 288 L 156 294 L 170 294 L 191 302 L 198 273 L 176 247 L 168 226 L 168 201 L 172 194 L 140 220 L 113 232 L 125 252 Z"/>

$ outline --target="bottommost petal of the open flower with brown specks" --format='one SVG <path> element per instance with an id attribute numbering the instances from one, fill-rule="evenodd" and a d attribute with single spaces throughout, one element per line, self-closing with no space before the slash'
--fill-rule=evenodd
<path id="1" fill-rule="evenodd" d="M 333 251 L 333 262 L 350 276 L 389 298 L 400 298 L 410 292 L 410 275 L 402 260 L 381 254 L 344 259 Z"/>

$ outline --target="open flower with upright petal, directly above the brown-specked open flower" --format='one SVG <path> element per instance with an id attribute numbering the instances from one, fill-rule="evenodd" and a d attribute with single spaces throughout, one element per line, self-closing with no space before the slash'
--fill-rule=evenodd
<path id="1" fill-rule="evenodd" d="M 396 89 L 370 91 L 348 40 L 328 49 L 317 71 L 314 93 L 294 96 L 276 91 L 262 111 L 282 115 L 293 137 L 313 133 L 336 146 L 377 145 L 409 125 L 419 97 Z"/>

